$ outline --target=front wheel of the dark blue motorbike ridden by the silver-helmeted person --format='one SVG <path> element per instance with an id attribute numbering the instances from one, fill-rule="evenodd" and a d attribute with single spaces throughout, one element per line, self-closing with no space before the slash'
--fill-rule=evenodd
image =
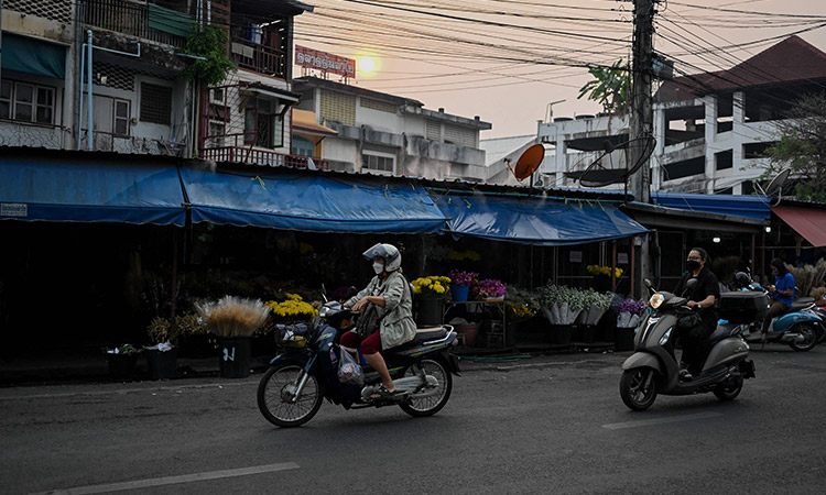
<path id="1" fill-rule="evenodd" d="M 304 425 L 318 413 L 324 395 L 315 376 L 307 375 L 301 396 L 294 400 L 304 375 L 302 366 L 295 363 L 279 363 L 264 373 L 258 384 L 258 408 L 268 421 L 292 428 Z"/>

